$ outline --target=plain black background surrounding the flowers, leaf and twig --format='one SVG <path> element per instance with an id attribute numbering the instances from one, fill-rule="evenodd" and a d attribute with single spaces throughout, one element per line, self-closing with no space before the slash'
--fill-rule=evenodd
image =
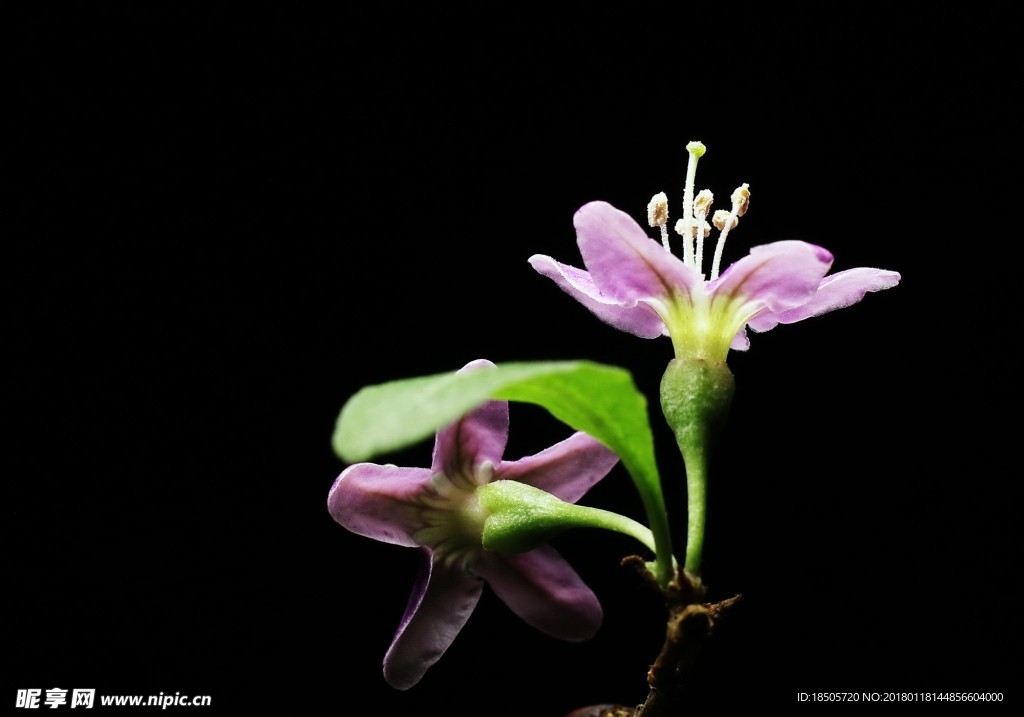
<path id="1" fill-rule="evenodd" d="M 330 518 L 330 436 L 366 384 L 477 357 L 623 366 L 679 516 L 669 341 L 601 324 L 526 259 L 580 265 L 588 201 L 640 220 L 656 192 L 680 201 L 691 139 L 698 186 L 751 184 L 726 262 L 799 238 L 836 270 L 903 277 L 730 355 L 705 578 L 743 597 L 695 703 L 1017 700 L 1008 20 L 626 7 L 8 11 L 5 706 L 54 686 L 224 714 L 642 700 L 660 606 L 617 564 L 634 546 L 592 532 L 555 545 L 604 604 L 594 640 L 547 638 L 485 592 L 421 684 L 388 687 L 415 558 Z M 506 457 L 565 434 L 515 405 Z M 641 516 L 622 468 L 584 502 Z"/>

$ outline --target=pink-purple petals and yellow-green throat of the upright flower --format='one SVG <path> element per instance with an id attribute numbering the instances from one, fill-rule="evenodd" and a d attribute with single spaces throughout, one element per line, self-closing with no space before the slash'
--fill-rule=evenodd
<path id="1" fill-rule="evenodd" d="M 734 209 L 732 225 L 736 214 Z M 867 292 L 889 289 L 900 280 L 895 271 L 864 267 L 825 276 L 833 262 L 830 253 L 806 242 L 784 241 L 754 247 L 721 277 L 717 276 L 719 249 L 712 280 L 705 281 L 700 247 L 694 259 L 692 238 L 696 235 L 702 242 L 710 226 L 697 231 L 693 227 L 698 220 L 705 223 L 701 216 L 683 227 L 691 237 L 683 260 L 668 250 L 664 233 L 663 245 L 625 212 L 591 202 L 573 218 L 588 270 L 540 254 L 529 263 L 616 329 L 643 338 L 669 335 L 676 357 L 719 362 L 725 361 L 729 348 L 750 346 L 746 327 L 768 331 L 850 306 Z M 728 221 L 723 217 L 731 227 Z"/>

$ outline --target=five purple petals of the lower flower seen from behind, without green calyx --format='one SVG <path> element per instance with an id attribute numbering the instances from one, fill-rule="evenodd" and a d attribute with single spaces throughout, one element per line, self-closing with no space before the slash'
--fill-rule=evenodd
<path id="1" fill-rule="evenodd" d="M 463 371 L 493 366 L 476 361 Z M 349 531 L 422 551 L 422 570 L 384 658 L 384 678 L 398 689 L 420 681 L 476 606 L 486 582 L 520 618 L 565 640 L 585 640 L 601 605 L 550 546 L 516 554 L 481 547 L 487 511 L 476 489 L 517 480 L 574 503 L 618 458 L 586 433 L 518 461 L 504 461 L 508 404 L 490 400 L 435 437 L 430 468 L 357 463 L 335 481 L 331 515 Z"/>

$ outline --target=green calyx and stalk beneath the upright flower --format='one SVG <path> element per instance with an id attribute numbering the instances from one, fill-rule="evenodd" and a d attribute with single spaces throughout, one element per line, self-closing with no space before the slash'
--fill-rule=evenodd
<path id="1" fill-rule="evenodd" d="M 703 552 L 708 460 L 721 435 L 736 383 L 725 362 L 675 358 L 662 377 L 662 412 L 686 464 L 686 562 L 697 576 Z"/>

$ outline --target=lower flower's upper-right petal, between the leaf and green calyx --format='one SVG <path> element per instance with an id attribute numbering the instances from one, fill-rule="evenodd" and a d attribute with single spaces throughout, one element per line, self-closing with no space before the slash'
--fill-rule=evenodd
<path id="1" fill-rule="evenodd" d="M 503 462 L 495 479 L 518 480 L 575 503 L 616 463 L 618 456 L 579 431 L 534 456 Z"/>

